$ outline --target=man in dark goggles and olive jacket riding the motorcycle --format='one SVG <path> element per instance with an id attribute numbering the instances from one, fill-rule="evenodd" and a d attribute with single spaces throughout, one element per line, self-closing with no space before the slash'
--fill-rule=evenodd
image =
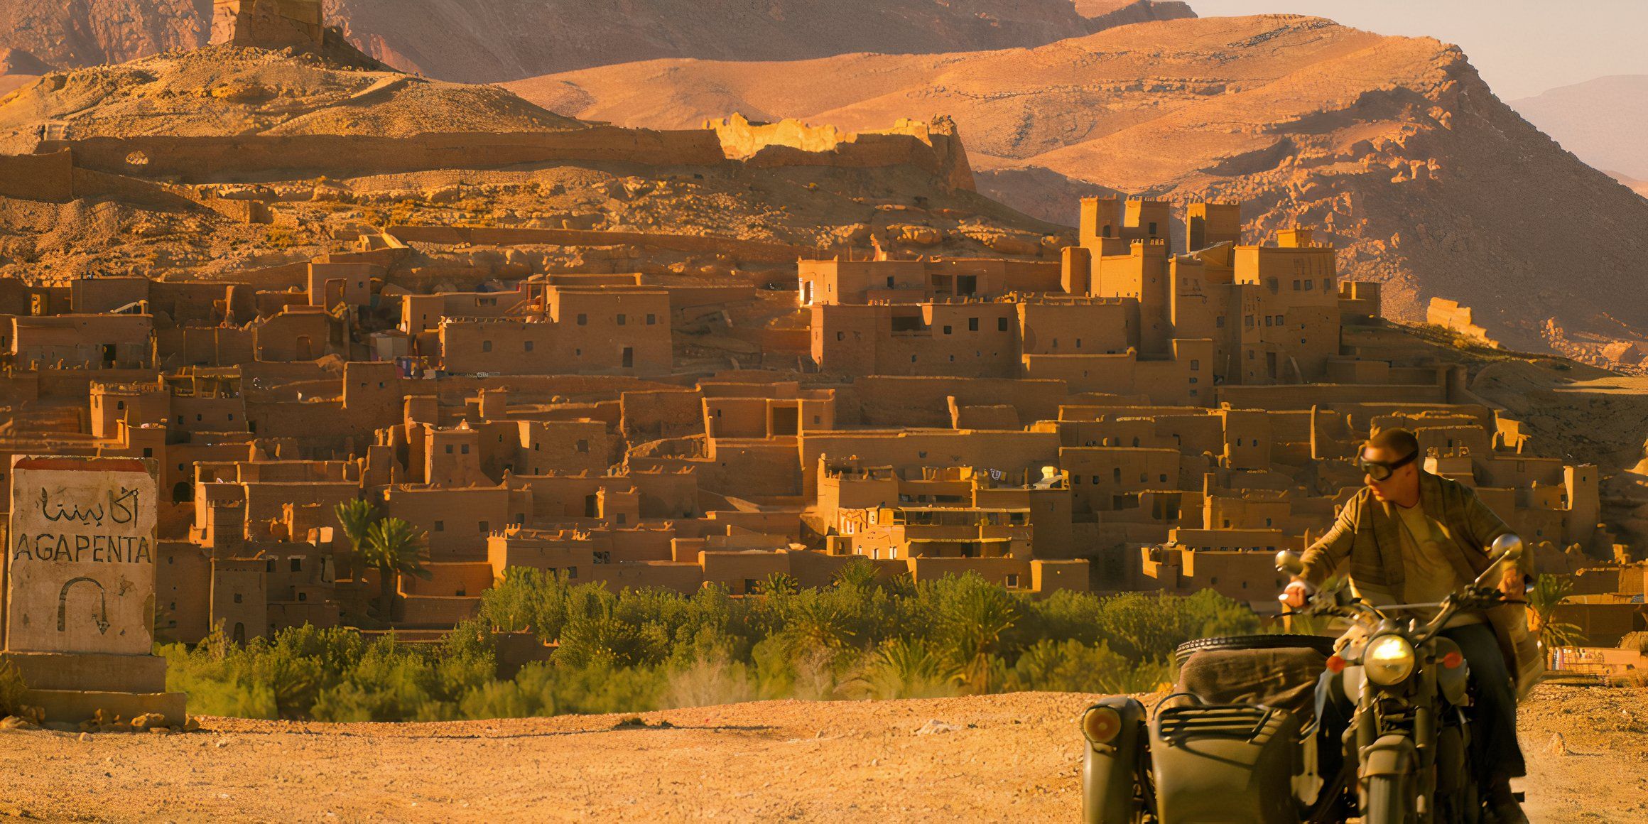
<path id="1" fill-rule="evenodd" d="M 1485 549 L 1511 529 L 1468 486 L 1424 471 L 1419 461 L 1419 440 L 1409 430 L 1381 430 L 1366 442 L 1360 460 L 1366 486 L 1305 550 L 1304 572 L 1287 585 L 1282 603 L 1305 606 L 1310 590 L 1346 560 L 1351 587 L 1373 605 L 1442 602 L 1491 565 Z M 1523 600 L 1524 574 L 1526 567 L 1511 567 L 1500 583 L 1515 602 Z M 1462 611 L 1442 634 L 1458 644 L 1475 686 L 1470 720 L 1478 786 L 1498 821 L 1524 822 L 1510 783 L 1526 775 L 1516 699 L 1544 664 L 1524 606 Z"/>

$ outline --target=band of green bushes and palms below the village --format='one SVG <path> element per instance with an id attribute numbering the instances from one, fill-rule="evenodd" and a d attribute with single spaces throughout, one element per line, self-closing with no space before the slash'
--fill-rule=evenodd
<path id="1" fill-rule="evenodd" d="M 443 720 L 781 697 L 1147 692 L 1170 681 L 1180 643 L 1257 630 L 1246 606 L 1211 592 L 1035 600 L 977 575 L 913 585 L 867 569 L 849 565 L 822 588 L 775 577 L 745 598 L 717 587 L 615 593 L 511 569 L 480 618 L 442 644 L 303 626 L 246 646 L 218 630 L 162 654 L 168 689 L 208 715 Z M 557 648 L 498 679 L 489 628 L 531 630 Z"/>

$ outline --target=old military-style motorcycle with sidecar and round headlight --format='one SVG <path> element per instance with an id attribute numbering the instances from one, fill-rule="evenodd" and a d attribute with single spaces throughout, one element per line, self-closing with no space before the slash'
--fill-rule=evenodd
<path id="1" fill-rule="evenodd" d="M 1442 603 L 1374 606 L 1318 592 L 1302 615 L 1350 620 L 1337 643 L 1269 634 L 1183 644 L 1178 684 L 1152 714 L 1127 695 L 1083 712 L 1084 821 L 1477 824 L 1468 667 L 1440 631 L 1463 610 L 1503 603 L 1491 582 L 1521 554 L 1515 536 L 1495 541 L 1488 569 Z M 1297 575 L 1302 564 L 1280 552 L 1277 569 Z M 1404 616 L 1414 610 L 1435 615 Z M 1337 742 L 1322 735 L 1330 702 L 1355 707 Z"/>

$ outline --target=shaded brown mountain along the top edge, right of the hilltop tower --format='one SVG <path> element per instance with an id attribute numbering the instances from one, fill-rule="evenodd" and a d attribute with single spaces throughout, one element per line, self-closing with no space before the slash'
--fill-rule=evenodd
<path id="1" fill-rule="evenodd" d="M 806 59 L 1040 46 L 1183 3 L 1070 0 L 328 0 L 363 51 L 471 82 L 654 58 Z M 410 12 L 409 7 L 417 12 Z M 1129 7 L 1129 8 L 1117 8 Z M 1160 8 L 1157 8 L 1160 7 Z"/>

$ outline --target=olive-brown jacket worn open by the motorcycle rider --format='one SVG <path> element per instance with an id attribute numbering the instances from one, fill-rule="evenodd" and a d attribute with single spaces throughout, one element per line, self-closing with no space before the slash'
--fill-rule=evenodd
<path id="1" fill-rule="evenodd" d="M 1472 488 L 1424 470 L 1419 471 L 1419 503 L 1445 534 L 1442 547 L 1460 580 L 1482 575 L 1491 564 L 1488 545 L 1511 531 Z M 1348 562 L 1356 588 L 1388 593 L 1396 603 L 1406 603 L 1407 570 L 1402 567 L 1401 529 L 1394 504 L 1376 499 L 1373 489 L 1363 488 L 1345 503 L 1333 527 L 1305 550 L 1305 572 L 1300 577 L 1322 583 Z M 1518 692 L 1526 694 L 1544 671 L 1544 656 L 1528 631 L 1528 605 L 1521 587 L 1533 572 L 1531 547 L 1524 550 L 1518 572 L 1508 574 L 1505 582 L 1493 582 L 1516 603 L 1495 606 L 1486 611 L 1486 618 L 1500 638 L 1500 649 L 1516 677 Z"/>

